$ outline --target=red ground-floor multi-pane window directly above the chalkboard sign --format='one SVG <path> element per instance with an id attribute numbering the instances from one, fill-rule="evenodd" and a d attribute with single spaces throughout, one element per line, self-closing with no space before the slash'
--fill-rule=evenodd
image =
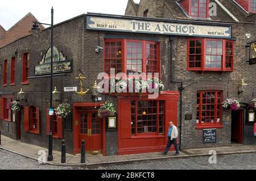
<path id="1" fill-rule="evenodd" d="M 223 128 L 222 91 L 197 91 L 196 128 Z"/>

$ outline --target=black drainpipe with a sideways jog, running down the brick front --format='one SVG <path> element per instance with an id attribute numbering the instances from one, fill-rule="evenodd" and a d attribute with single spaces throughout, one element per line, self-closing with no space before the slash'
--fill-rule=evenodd
<path id="1" fill-rule="evenodd" d="M 184 90 L 183 82 L 174 80 L 174 37 L 170 36 L 171 43 L 171 83 L 180 83 L 180 138 L 179 149 L 181 150 L 181 133 L 182 133 L 182 91 Z"/>

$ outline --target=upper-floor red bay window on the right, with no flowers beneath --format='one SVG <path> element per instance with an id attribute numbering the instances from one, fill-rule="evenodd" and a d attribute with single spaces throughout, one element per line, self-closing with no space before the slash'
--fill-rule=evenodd
<path id="1" fill-rule="evenodd" d="M 233 44 L 231 40 L 189 39 L 187 69 L 233 71 Z"/>

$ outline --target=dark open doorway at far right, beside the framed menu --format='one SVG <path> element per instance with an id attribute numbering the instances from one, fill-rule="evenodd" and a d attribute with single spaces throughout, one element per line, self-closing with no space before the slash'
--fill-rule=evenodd
<path id="1" fill-rule="evenodd" d="M 232 142 L 243 144 L 244 111 L 232 111 Z"/>

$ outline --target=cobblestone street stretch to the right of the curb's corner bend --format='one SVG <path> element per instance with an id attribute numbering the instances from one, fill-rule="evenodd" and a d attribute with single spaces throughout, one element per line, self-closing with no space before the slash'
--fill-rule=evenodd
<path id="1" fill-rule="evenodd" d="M 95 168 L 94 168 L 95 169 Z M 125 165 L 100 166 L 104 170 L 256 170 L 256 153 L 217 155 L 217 164 L 209 157 L 173 158 Z"/>

